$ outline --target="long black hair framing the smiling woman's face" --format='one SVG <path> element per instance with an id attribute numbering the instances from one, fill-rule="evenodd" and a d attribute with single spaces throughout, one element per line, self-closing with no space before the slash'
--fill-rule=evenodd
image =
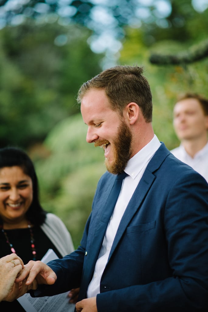
<path id="1" fill-rule="evenodd" d="M 23 172 L 32 180 L 33 200 L 31 206 L 26 212 L 27 219 L 33 225 L 41 225 L 45 221 L 46 211 L 39 202 L 38 179 L 35 173 L 34 165 L 30 157 L 22 149 L 17 147 L 4 147 L 0 149 L 0 170 L 3 167 L 21 167 Z M 0 217 L 0 222 L 2 222 Z"/>

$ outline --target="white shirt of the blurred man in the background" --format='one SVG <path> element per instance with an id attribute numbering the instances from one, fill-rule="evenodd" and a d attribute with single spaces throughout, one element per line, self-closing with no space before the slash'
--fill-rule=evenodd
<path id="1" fill-rule="evenodd" d="M 203 149 L 194 155 L 193 158 L 187 154 L 182 144 L 180 144 L 179 147 L 172 149 L 171 153 L 183 163 L 186 163 L 200 173 L 208 182 L 208 142 Z"/>

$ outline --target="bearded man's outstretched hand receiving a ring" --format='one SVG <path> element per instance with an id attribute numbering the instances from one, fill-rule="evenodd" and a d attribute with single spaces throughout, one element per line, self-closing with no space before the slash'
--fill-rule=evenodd
<path id="1" fill-rule="evenodd" d="M 25 285 L 29 286 L 36 280 L 37 284 L 52 285 L 55 283 L 56 279 L 56 274 L 49 266 L 41 261 L 31 260 L 25 265 L 21 274 L 17 277 L 16 282 L 20 283 L 26 280 Z M 32 287 L 34 287 L 34 285 Z"/>

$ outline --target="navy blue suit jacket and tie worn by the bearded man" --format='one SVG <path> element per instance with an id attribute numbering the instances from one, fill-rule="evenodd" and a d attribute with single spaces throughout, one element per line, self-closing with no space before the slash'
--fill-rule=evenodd
<path id="1" fill-rule="evenodd" d="M 112 210 L 115 175 L 98 182 L 80 246 L 50 261 L 57 274 L 41 295 L 80 286 L 86 298 Z M 40 294 L 39 294 L 40 295 Z M 103 272 L 98 312 L 208 310 L 208 184 L 162 143 L 150 160 L 116 233 Z"/>

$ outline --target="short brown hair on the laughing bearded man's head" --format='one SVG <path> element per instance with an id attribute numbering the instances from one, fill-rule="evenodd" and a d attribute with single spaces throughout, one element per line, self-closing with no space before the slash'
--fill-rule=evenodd
<path id="1" fill-rule="evenodd" d="M 121 113 L 128 103 L 135 102 L 141 109 L 146 122 L 152 121 L 152 93 L 143 67 L 115 66 L 102 71 L 83 83 L 78 91 L 77 101 L 90 89 L 105 89 L 111 108 Z"/>

